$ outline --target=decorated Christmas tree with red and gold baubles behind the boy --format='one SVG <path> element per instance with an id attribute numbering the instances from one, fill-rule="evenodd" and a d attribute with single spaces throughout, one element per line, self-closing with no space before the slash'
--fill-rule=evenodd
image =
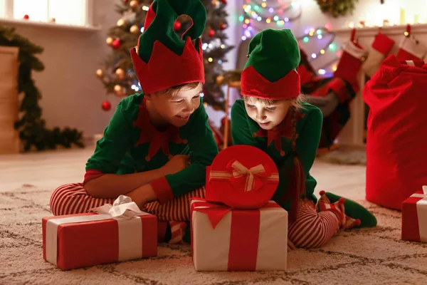
<path id="1" fill-rule="evenodd" d="M 118 97 L 141 92 L 141 86 L 135 75 L 130 49 L 137 45 L 139 35 L 144 31 L 144 21 L 152 0 L 118 0 L 116 11 L 120 14 L 116 26 L 108 31 L 107 45 L 112 51 L 103 68 L 97 70 L 97 77 L 105 86 L 107 94 Z M 226 53 L 233 46 L 226 45 L 228 27 L 226 12 L 227 0 L 201 0 L 206 7 L 206 29 L 202 35 L 204 49 L 204 66 L 206 84 L 204 85 L 204 102 L 216 109 L 222 109 L 224 94 L 221 85 L 224 81 L 222 63 L 226 62 Z M 191 26 L 189 16 L 181 15 L 176 19 L 174 30 L 180 36 Z M 104 110 L 110 110 L 109 100 L 102 103 Z"/>

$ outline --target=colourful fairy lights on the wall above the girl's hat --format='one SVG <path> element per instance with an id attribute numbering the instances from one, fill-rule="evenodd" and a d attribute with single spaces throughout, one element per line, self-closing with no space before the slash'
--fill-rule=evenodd
<path id="1" fill-rule="evenodd" d="M 242 22 L 243 35 L 242 41 L 246 41 L 259 31 L 265 28 L 285 28 L 287 24 L 300 18 L 302 8 L 299 1 L 289 0 L 246 0 L 243 4 L 243 15 L 239 16 Z M 337 45 L 334 43 L 335 33 L 330 31 L 330 24 L 325 27 L 307 28 L 302 36 L 297 37 L 297 41 L 310 43 L 312 41 L 321 41 L 322 48 L 317 52 L 309 53 L 310 61 L 315 61 L 329 53 L 334 53 L 334 58 L 322 64 L 317 73 L 327 74 L 327 67 L 332 71 L 337 69 L 334 63 L 337 63 L 341 52 L 337 51 Z M 332 68 L 331 68 L 332 66 Z"/>

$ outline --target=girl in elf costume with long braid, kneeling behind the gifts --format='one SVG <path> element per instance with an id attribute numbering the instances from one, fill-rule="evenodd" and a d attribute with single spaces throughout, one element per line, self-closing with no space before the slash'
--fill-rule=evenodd
<path id="1" fill-rule="evenodd" d="M 315 248 L 339 228 L 372 227 L 376 219 L 349 199 L 321 191 L 317 202 L 313 194 L 317 182 L 310 168 L 322 112 L 301 100 L 299 63 L 300 50 L 290 30 L 267 29 L 253 37 L 241 75 L 243 100 L 231 110 L 231 132 L 235 145 L 258 147 L 278 166 L 273 199 L 289 212 L 288 246 Z"/>

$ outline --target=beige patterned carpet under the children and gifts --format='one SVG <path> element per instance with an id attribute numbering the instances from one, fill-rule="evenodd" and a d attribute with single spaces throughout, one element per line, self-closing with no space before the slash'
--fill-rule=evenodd
<path id="1" fill-rule="evenodd" d="M 339 232 L 322 249 L 298 249 L 283 272 L 196 272 L 188 246 L 159 257 L 61 271 L 42 258 L 41 218 L 51 190 L 0 190 L 0 284 L 426 284 L 427 244 L 400 240 L 401 214 L 364 202 L 374 229 Z"/>

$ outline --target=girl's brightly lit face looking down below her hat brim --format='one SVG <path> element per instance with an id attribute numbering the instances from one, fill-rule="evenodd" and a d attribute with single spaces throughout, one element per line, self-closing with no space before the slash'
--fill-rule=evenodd
<path id="1" fill-rule="evenodd" d="M 245 100 L 246 113 L 264 130 L 271 130 L 282 123 L 291 105 L 292 100 L 279 100 L 272 105 L 265 105 L 258 100 Z"/>

